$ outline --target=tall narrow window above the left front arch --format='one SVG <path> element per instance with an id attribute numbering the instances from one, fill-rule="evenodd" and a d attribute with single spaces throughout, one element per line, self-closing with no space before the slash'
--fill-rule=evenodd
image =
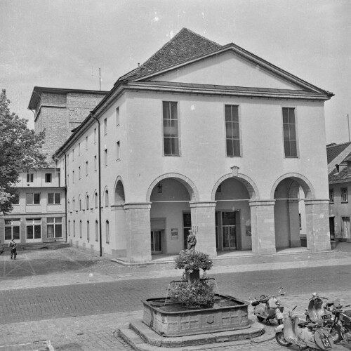
<path id="1" fill-rule="evenodd" d="M 163 102 L 164 155 L 179 156 L 179 128 L 177 102 Z"/>

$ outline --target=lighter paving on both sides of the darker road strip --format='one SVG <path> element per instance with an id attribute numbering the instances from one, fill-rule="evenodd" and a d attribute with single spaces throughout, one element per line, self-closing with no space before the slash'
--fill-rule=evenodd
<path id="1" fill-rule="evenodd" d="M 214 260 L 211 273 L 249 272 L 258 270 L 281 270 L 296 267 L 321 267 L 325 265 L 351 265 L 351 245 L 341 244 L 332 251 L 311 253 L 304 248 L 290 249 L 277 255 L 254 256 L 251 253 L 226 254 Z M 349 251 L 350 250 L 350 251 Z M 163 262 L 162 262 L 163 260 Z M 0 256 L 0 294 L 12 289 L 31 289 L 47 286 L 68 286 L 72 284 L 95 284 L 116 280 L 152 279 L 179 277 L 172 262 L 152 265 L 120 265 L 113 260 L 91 256 L 81 249 L 66 248 L 51 251 L 20 252 L 17 260 Z M 1 296 L 1 295 L 0 295 Z M 329 298 L 340 298 L 342 303 L 351 300 L 349 291 L 334 291 Z M 303 304 L 301 303 L 303 301 Z M 298 305 L 296 312 L 303 316 L 307 307 L 307 296 L 289 295 L 284 297 L 286 308 Z M 136 302 L 138 303 L 138 302 Z M 141 307 L 141 306 L 140 306 Z M 141 310 L 98 314 L 85 317 L 46 319 L 33 322 L 1 325 L 0 351 L 10 350 L 131 350 L 131 347 L 117 337 L 117 329 L 126 327 L 133 319 L 142 319 Z M 249 318 L 256 319 L 249 307 Z M 233 342 L 226 347 L 213 345 L 211 351 L 286 350 L 274 340 L 274 326 L 265 326 L 270 340 L 256 343 L 255 340 Z M 191 350 L 189 347 L 187 347 Z M 157 348 L 155 348 L 157 350 Z M 206 349 L 203 349 L 206 350 Z M 289 350 L 297 351 L 295 347 Z M 351 350 L 351 344 L 342 342 L 333 348 L 336 351 Z M 170 350 L 172 351 L 172 350 Z"/>

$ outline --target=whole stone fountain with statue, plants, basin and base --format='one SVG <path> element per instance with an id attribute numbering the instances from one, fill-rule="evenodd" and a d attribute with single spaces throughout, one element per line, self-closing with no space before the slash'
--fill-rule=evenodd
<path id="1" fill-rule="evenodd" d="M 143 323 L 132 322 L 130 328 L 147 343 L 156 345 L 152 340 L 158 340 L 158 346 L 166 347 L 262 335 L 263 326 L 249 320 L 249 303 L 220 295 L 216 280 L 206 277 L 213 263 L 208 255 L 195 250 L 195 244 L 196 237 L 190 232 L 188 249 L 180 251 L 176 258 L 176 268 L 185 269 L 183 279 L 168 285 L 166 297 L 143 300 Z M 204 271 L 202 278 L 200 269 Z M 120 331 L 119 335 L 131 340 L 126 332 Z"/>

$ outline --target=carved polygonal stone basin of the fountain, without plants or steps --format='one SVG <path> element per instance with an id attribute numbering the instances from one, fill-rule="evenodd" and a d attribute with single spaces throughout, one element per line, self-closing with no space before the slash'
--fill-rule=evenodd
<path id="1" fill-rule="evenodd" d="M 193 309 L 178 303 L 164 305 L 165 298 L 148 298 L 143 300 L 143 322 L 159 335 L 170 337 L 250 327 L 248 302 L 218 294 L 216 300 L 211 308 Z"/>

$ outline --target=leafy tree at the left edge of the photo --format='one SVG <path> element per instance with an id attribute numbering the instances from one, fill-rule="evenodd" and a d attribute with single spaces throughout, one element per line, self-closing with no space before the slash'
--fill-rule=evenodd
<path id="1" fill-rule="evenodd" d="M 34 133 L 27 119 L 11 113 L 6 90 L 0 94 L 0 211 L 7 213 L 17 197 L 20 173 L 48 166 L 41 154 L 45 133 Z"/>

